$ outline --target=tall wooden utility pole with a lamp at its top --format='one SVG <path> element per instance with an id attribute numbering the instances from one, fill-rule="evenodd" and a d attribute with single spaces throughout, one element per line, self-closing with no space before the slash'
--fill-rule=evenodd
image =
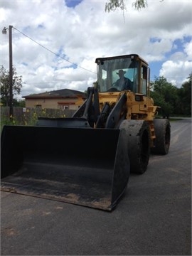
<path id="1" fill-rule="evenodd" d="M 4 27 L 3 34 L 6 34 L 6 30 L 9 29 L 9 118 L 13 119 L 13 51 L 12 51 L 12 28 Z"/>

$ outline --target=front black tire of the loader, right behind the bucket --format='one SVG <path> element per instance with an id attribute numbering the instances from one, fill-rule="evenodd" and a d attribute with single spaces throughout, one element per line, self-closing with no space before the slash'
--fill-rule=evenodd
<path id="1" fill-rule="evenodd" d="M 124 120 L 120 129 L 126 129 L 130 171 L 143 174 L 149 163 L 149 124 L 143 120 Z"/>

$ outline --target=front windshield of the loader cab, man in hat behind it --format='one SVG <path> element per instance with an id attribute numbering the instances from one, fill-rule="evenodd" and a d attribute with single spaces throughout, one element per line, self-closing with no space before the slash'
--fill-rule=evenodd
<path id="1" fill-rule="evenodd" d="M 101 61 L 97 65 L 97 82 L 100 92 L 115 90 L 137 92 L 138 61 L 132 58 Z"/>

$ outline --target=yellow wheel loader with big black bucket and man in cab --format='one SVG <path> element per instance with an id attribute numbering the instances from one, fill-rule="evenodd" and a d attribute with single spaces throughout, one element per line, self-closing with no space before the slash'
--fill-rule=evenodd
<path id="1" fill-rule="evenodd" d="M 144 174 L 151 152 L 168 153 L 171 128 L 156 118 L 148 63 L 137 54 L 95 63 L 97 82 L 73 117 L 4 126 L 2 191 L 112 210 L 130 171 Z"/>

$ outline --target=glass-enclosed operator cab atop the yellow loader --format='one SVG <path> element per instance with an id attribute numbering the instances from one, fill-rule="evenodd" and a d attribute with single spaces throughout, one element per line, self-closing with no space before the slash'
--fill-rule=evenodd
<path id="1" fill-rule="evenodd" d="M 137 54 L 97 58 L 97 82 L 99 92 L 130 90 L 147 94 L 149 85 L 148 63 Z M 121 78 L 120 74 L 123 74 Z M 124 81 L 124 86 L 119 85 Z"/>

